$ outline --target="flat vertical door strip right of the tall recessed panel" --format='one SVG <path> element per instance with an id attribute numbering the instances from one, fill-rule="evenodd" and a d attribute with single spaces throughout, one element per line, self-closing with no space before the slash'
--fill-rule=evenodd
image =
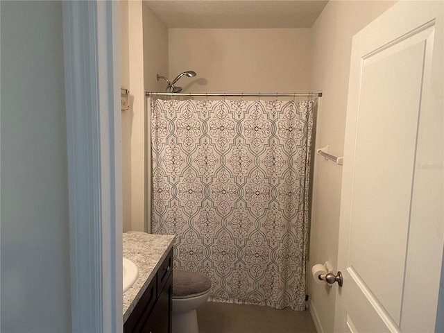
<path id="1" fill-rule="evenodd" d="M 442 2 L 441 2 L 442 4 Z M 441 9 L 441 15 L 443 9 Z M 441 275 L 444 238 L 443 173 L 443 26 L 429 28 L 416 142 L 416 162 L 411 194 L 409 240 L 404 274 L 401 329 L 432 332 Z M 425 31 L 425 33 L 427 33 Z M 437 38 L 436 38 L 437 37 Z M 432 47 L 434 39 L 441 42 Z M 439 53 L 434 49 L 441 50 Z M 436 58 L 440 54 L 440 58 Z M 436 66 L 439 64 L 439 66 Z M 439 70 L 441 68 L 441 70 Z M 441 82 L 440 82 L 441 81 Z M 441 87 L 438 94 L 434 89 Z M 430 98 L 436 96 L 437 98 Z M 441 97 L 440 97 L 441 96 Z M 432 302 L 431 302 L 432 301 Z M 426 306 L 422 306 L 425 304 Z M 427 306 L 427 305 L 434 305 Z M 412 315 L 414 314 L 414 315 Z M 427 325 L 429 323 L 429 325 Z"/>

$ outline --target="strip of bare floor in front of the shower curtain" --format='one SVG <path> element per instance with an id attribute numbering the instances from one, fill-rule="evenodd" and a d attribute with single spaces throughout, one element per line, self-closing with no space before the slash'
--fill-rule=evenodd
<path id="1" fill-rule="evenodd" d="M 316 333 L 308 310 L 206 302 L 197 318 L 199 333 Z"/>

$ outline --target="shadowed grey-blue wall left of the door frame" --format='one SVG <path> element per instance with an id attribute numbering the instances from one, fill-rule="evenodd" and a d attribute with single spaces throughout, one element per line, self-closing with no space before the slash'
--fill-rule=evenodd
<path id="1" fill-rule="evenodd" d="M 1 332 L 71 332 L 61 1 L 1 1 Z"/>

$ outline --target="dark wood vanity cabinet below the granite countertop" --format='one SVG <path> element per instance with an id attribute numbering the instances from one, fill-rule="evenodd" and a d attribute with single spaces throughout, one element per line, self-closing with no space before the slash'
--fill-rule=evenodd
<path id="1" fill-rule="evenodd" d="M 123 324 L 123 333 L 171 333 L 173 251 L 155 273 L 142 298 Z"/>

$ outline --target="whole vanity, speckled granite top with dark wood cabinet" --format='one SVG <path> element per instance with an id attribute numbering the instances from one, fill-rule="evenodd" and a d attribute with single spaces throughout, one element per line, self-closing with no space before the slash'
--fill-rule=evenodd
<path id="1" fill-rule="evenodd" d="M 123 257 L 138 269 L 123 293 L 123 332 L 171 332 L 173 243 L 175 236 L 123 234 Z"/>

